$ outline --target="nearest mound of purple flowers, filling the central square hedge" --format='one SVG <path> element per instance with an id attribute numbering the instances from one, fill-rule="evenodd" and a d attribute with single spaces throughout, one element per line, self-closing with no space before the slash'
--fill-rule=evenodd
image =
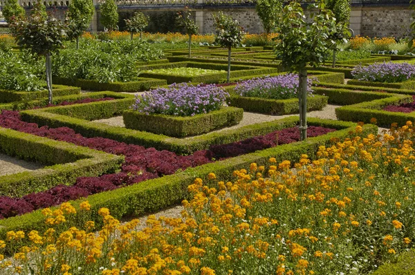
<path id="1" fill-rule="evenodd" d="M 219 110 L 229 94 L 214 84 L 193 86 L 187 83 L 172 84 L 168 88 L 157 88 L 136 96 L 131 108 L 146 113 L 193 116 Z"/>

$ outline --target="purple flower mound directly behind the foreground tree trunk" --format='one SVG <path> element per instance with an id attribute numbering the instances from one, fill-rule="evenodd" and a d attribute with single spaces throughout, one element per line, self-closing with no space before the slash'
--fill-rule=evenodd
<path id="1" fill-rule="evenodd" d="M 298 95 L 298 75 L 288 73 L 275 77 L 257 77 L 237 84 L 235 93 L 243 97 L 268 99 L 290 99 Z M 311 95 L 312 80 L 307 81 L 307 91 Z"/>

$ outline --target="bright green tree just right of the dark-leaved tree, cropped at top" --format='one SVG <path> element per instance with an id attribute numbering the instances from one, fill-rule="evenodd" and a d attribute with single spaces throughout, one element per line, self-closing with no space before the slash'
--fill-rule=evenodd
<path id="1" fill-rule="evenodd" d="M 95 7 L 92 0 L 73 0 L 68 7 L 68 37 L 76 40 L 80 48 L 80 36 L 89 28 Z"/>

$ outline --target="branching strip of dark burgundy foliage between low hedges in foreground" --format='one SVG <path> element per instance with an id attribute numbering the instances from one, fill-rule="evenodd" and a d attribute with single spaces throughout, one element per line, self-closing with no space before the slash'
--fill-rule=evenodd
<path id="1" fill-rule="evenodd" d="M 170 151 L 158 151 L 154 148 L 145 149 L 143 146 L 116 142 L 107 138 L 84 138 L 67 127 L 57 129 L 50 129 L 47 126 L 39 127 L 35 123 L 21 121 L 19 113 L 15 111 L 3 111 L 0 115 L 0 126 L 125 156 L 125 162 L 122 164 L 119 173 L 100 177 L 80 177 L 77 178 L 73 186 L 59 185 L 47 191 L 30 193 L 22 198 L 2 196 L 0 197 L 0 218 L 25 214 L 35 209 L 59 205 L 62 202 L 86 197 L 94 193 L 117 189 L 151 178 L 171 175 L 178 169 L 184 170 L 188 167 L 196 167 L 213 162 L 214 159 L 230 158 L 299 140 L 298 129 L 293 127 L 241 142 L 215 145 L 210 150 L 196 151 L 192 155 L 182 156 Z M 332 131 L 335 130 L 310 126 L 307 135 L 311 138 Z"/>

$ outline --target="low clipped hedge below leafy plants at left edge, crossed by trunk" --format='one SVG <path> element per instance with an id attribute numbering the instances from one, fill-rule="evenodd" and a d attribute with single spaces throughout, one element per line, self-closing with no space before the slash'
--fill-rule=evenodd
<path id="1" fill-rule="evenodd" d="M 77 87 L 53 85 L 53 95 L 57 97 L 64 95 L 77 95 L 79 93 L 81 93 L 81 89 Z M 0 103 L 34 100 L 46 97 L 48 97 L 47 90 L 37 92 L 0 90 Z"/>

